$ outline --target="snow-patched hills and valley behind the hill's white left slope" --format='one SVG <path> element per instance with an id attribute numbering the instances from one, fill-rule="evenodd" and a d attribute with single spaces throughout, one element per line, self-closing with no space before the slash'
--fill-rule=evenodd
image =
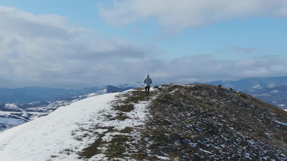
<path id="1" fill-rule="evenodd" d="M 17 105 L 17 104 L 0 104 L 0 131 L 9 129 L 11 127 L 17 126 L 21 123 L 25 123 L 31 120 L 34 120 L 36 118 L 48 115 L 49 113 L 53 112 L 57 108 L 61 106 L 67 106 L 72 104 L 73 102 L 88 98 L 88 97 L 93 97 L 93 96 L 98 96 L 98 95 L 103 95 L 107 93 L 112 93 L 112 92 L 123 92 L 128 89 L 131 89 L 130 87 L 128 88 L 117 88 L 111 85 L 105 86 L 101 90 L 90 93 L 88 95 L 83 95 L 83 96 L 75 96 L 75 97 L 70 97 L 70 98 L 65 98 L 57 101 L 36 101 L 36 102 L 31 102 L 23 105 Z M 10 121 L 9 121 L 10 120 Z M 15 124 L 15 122 L 17 122 Z"/>

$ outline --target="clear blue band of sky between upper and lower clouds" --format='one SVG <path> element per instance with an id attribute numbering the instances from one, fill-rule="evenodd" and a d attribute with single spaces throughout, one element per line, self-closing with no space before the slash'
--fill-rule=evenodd
<path id="1" fill-rule="evenodd" d="M 257 48 L 245 57 L 263 55 L 285 56 L 287 19 L 262 17 L 234 18 L 207 26 L 180 31 L 175 35 L 162 32 L 154 21 L 124 27 L 113 27 L 99 16 L 97 5 L 110 7 L 111 0 L 0 0 L 2 5 L 34 14 L 66 16 L 78 26 L 101 32 L 105 37 L 119 37 L 138 44 L 155 44 L 168 58 L 193 54 L 214 54 L 218 58 L 240 58 L 228 46 Z M 135 33 L 137 30 L 140 33 Z M 158 38 L 163 37 L 163 38 Z M 276 43 L 274 43 L 276 42 Z M 273 44 L 274 43 L 274 44 Z M 229 54 L 233 53 L 231 57 Z"/>

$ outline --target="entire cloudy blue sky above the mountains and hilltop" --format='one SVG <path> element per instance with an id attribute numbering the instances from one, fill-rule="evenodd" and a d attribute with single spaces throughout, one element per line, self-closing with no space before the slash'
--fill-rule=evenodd
<path id="1" fill-rule="evenodd" d="M 0 87 L 287 76 L 287 0 L 0 0 Z"/>

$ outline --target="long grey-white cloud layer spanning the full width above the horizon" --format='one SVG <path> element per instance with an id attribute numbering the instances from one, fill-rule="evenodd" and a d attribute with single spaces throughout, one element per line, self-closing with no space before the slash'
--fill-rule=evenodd
<path id="1" fill-rule="evenodd" d="M 0 7 L 0 29 L 0 87 L 76 88 L 142 81 L 146 74 L 162 83 L 287 75 L 287 59 L 281 57 L 164 61 L 155 47 L 97 36 L 63 16 L 8 7 Z"/>

